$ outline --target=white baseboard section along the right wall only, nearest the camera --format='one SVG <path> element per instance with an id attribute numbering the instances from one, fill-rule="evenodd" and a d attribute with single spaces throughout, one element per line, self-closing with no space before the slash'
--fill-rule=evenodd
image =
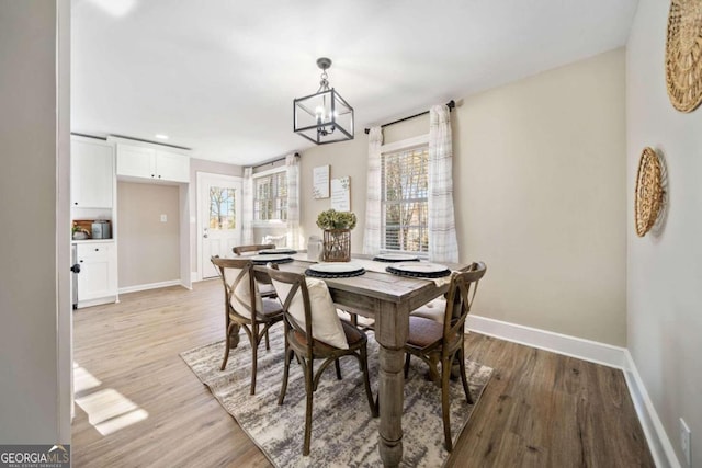
<path id="1" fill-rule="evenodd" d="M 650 455 L 654 457 L 658 468 L 680 468 L 680 461 L 678 461 L 672 444 L 670 444 L 670 440 L 660 422 L 660 418 L 658 418 L 653 401 L 648 397 L 648 391 L 646 391 L 644 381 L 629 350 L 624 350 L 624 355 L 626 359 L 626 368 L 624 369 L 626 386 L 632 396 L 638 421 L 644 429 Z"/>

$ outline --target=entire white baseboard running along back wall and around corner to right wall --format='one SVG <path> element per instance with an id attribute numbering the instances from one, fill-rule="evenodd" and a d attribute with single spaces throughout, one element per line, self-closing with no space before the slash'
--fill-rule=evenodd
<path id="1" fill-rule="evenodd" d="M 466 323 L 468 330 L 476 333 L 622 369 L 656 466 L 658 468 L 680 468 L 670 440 L 648 397 L 629 350 L 480 316 L 468 316 Z"/>

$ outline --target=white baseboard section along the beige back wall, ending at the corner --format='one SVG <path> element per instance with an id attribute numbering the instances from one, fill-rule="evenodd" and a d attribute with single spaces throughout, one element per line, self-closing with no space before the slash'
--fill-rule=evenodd
<path id="1" fill-rule="evenodd" d="M 611 344 L 488 319 L 487 317 L 480 316 L 468 316 L 466 323 L 468 330 L 499 338 L 500 340 L 552 351 L 609 367 L 623 369 L 625 366 L 624 351 L 626 350 L 612 346 Z"/>

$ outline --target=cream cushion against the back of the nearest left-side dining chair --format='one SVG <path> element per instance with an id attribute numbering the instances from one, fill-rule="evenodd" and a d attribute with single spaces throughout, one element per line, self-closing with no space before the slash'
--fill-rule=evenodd
<path id="1" fill-rule="evenodd" d="M 327 283 L 317 278 L 305 278 L 307 290 L 309 292 L 309 304 L 312 307 L 312 335 L 315 340 L 319 340 L 331 346 L 342 350 L 349 349 L 347 336 L 341 327 L 341 320 L 337 316 L 337 308 L 333 306 L 331 295 Z M 275 292 L 281 303 L 287 298 L 287 294 L 292 289 L 292 285 L 273 281 Z M 301 290 L 297 290 L 295 297 L 290 304 L 288 312 L 295 321 L 305 327 L 305 305 Z"/>

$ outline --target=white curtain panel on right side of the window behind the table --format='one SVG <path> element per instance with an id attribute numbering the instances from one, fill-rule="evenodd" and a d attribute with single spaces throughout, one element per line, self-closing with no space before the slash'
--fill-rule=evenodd
<path id="1" fill-rule="evenodd" d="M 453 214 L 453 147 L 451 112 L 445 105 L 429 111 L 429 260 L 457 262 L 458 242 Z"/>

